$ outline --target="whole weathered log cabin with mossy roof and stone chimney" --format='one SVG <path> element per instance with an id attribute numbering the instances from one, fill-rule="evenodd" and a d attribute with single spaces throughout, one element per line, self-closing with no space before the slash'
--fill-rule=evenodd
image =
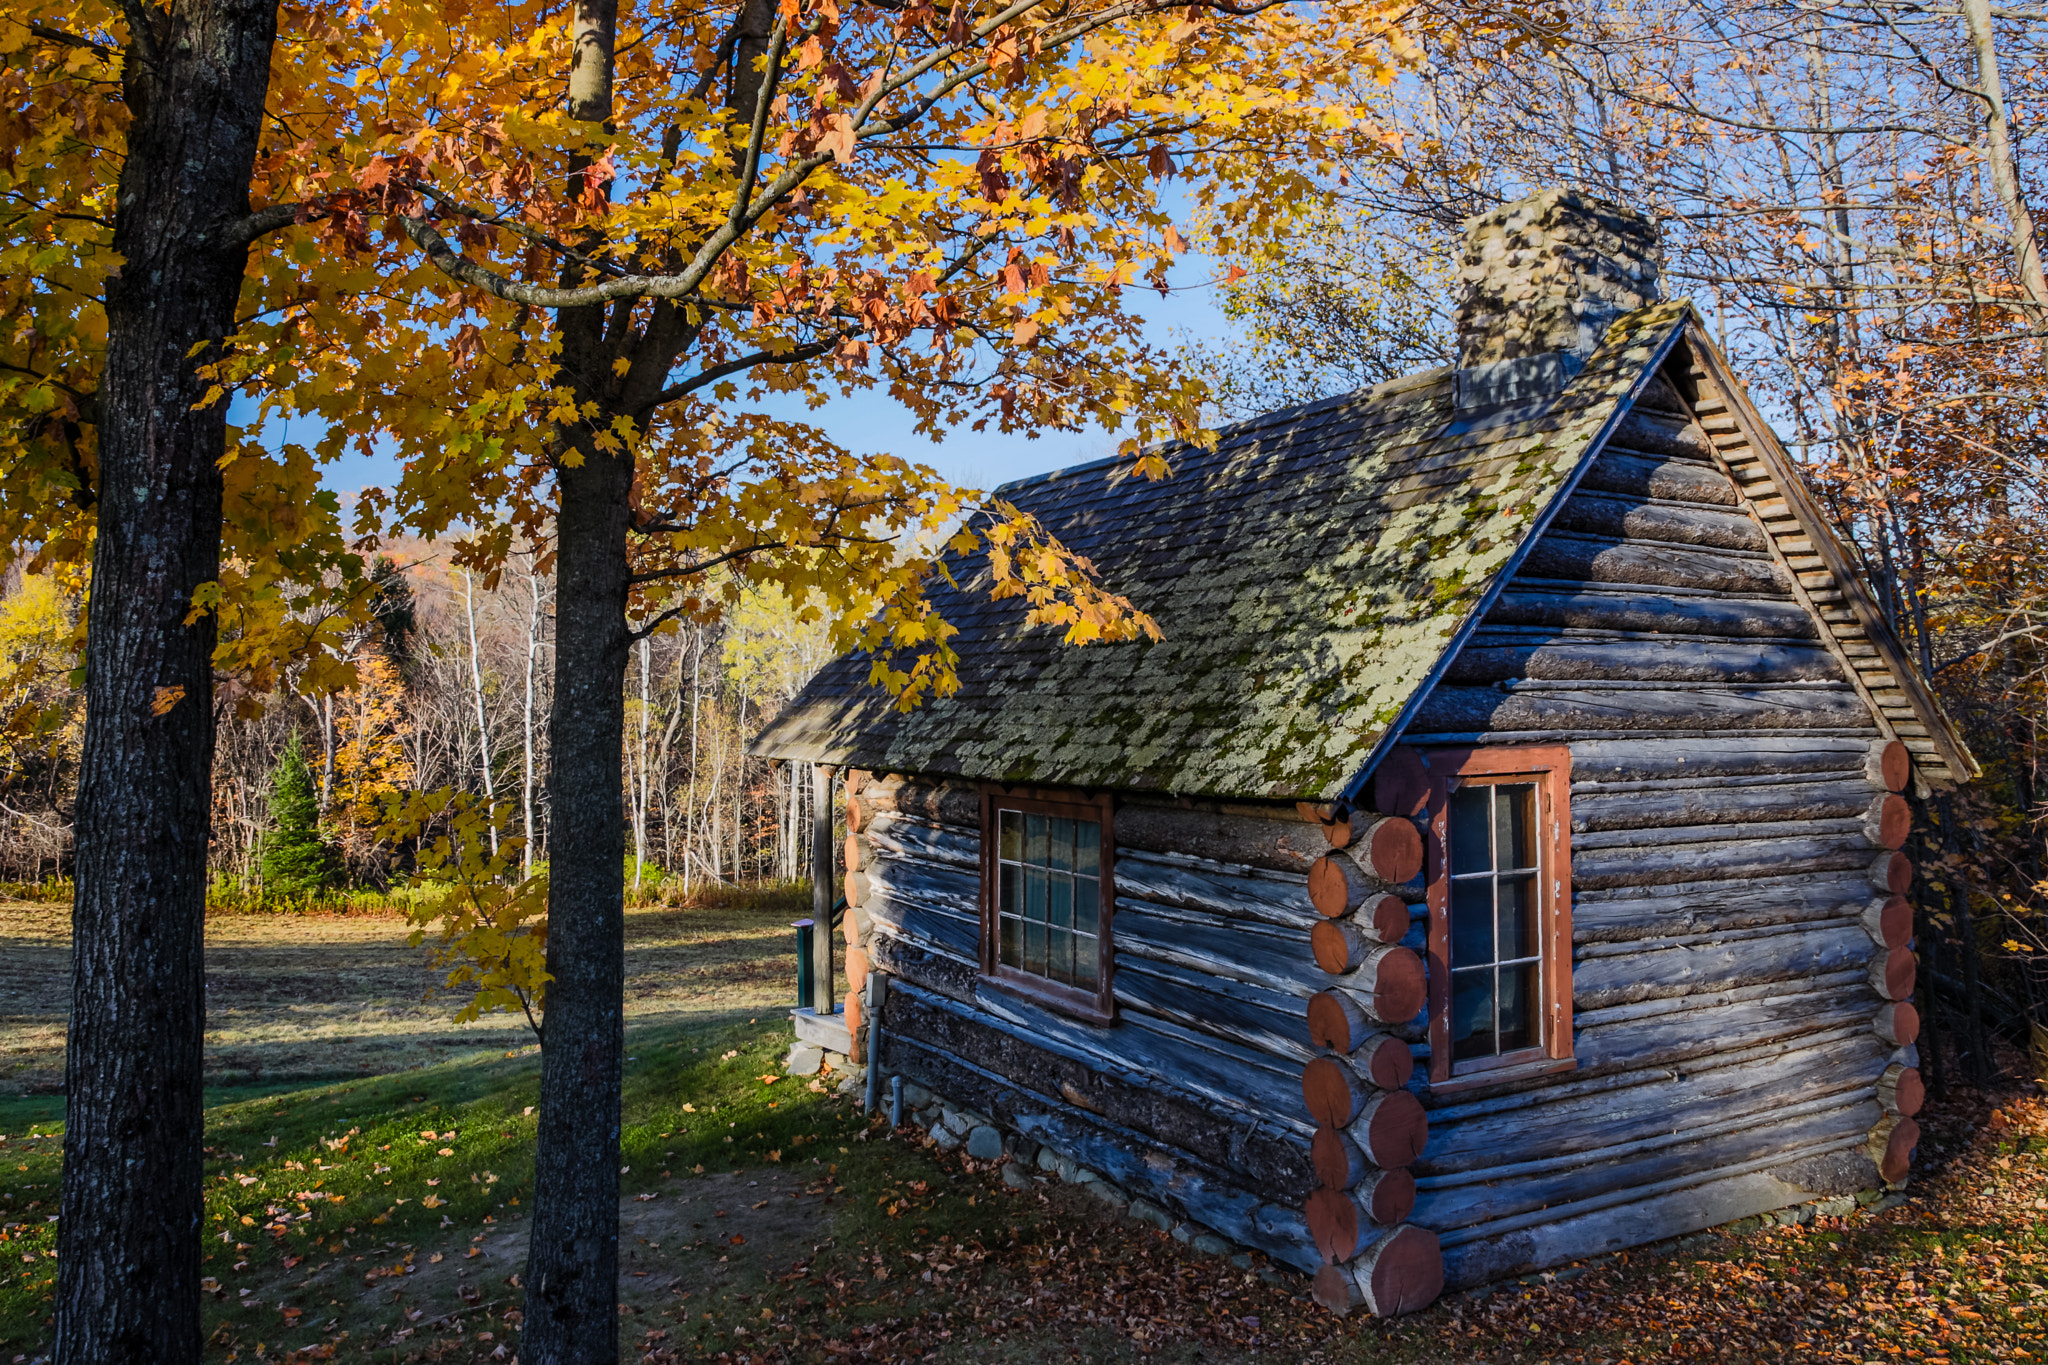
<path id="1" fill-rule="evenodd" d="M 1976 774 L 1653 225 L 1466 233 L 1456 366 L 999 491 L 1163 639 L 969 565 L 956 694 L 844 657 L 754 745 L 846 778 L 885 1072 L 1339 1312 L 1903 1181 Z"/>

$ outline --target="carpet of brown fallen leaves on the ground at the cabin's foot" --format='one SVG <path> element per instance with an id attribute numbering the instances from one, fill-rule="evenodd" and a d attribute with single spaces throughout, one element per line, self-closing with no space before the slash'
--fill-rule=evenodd
<path id="1" fill-rule="evenodd" d="M 1389 1363 L 2038 1359 L 2048 1353 L 2048 1324 L 2034 1308 L 2048 1304 L 2048 1236 L 2032 1209 L 2048 1193 L 2048 1103 L 2005 1097 L 1993 1111 L 1964 1097 L 1931 1109 L 1923 1126 L 1925 1169 L 1901 1207 L 1808 1226 L 1751 1222 L 1677 1252 L 1640 1250 L 1454 1293 L 1393 1322 L 1333 1318 L 1307 1302 L 1305 1281 L 1290 1271 L 1266 1283 L 1128 1224 L 1049 1218 L 1012 1228 L 1008 1244 L 995 1230 L 981 1240 L 911 1244 L 903 1220 L 911 1236 L 897 1250 L 862 1250 L 852 1265 L 797 1265 L 778 1277 L 801 1295 L 823 1289 L 829 1310 L 807 1312 L 797 1297 L 745 1336 L 737 1324 L 727 1334 L 700 1320 L 694 1349 L 649 1338 L 645 1359 L 719 1351 L 735 1361 L 967 1359 L 977 1342 L 999 1340 L 1012 1342 L 1006 1359 L 1051 1342 L 1061 1345 L 1059 1357 L 1081 1347 L 1085 1359 L 1081 1342 L 1092 1338 L 1122 1342 L 1098 1351 L 1102 1359 L 1169 1347 L 1223 1359 Z M 905 1207 L 911 1197 L 879 1203 Z"/>

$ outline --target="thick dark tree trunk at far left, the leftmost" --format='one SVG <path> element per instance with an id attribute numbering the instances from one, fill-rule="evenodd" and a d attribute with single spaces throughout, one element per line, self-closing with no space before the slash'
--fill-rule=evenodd
<path id="1" fill-rule="evenodd" d="M 98 540 L 72 907 L 55 1359 L 197 1361 L 211 616 L 225 401 L 195 409 L 233 329 L 272 0 L 180 0 L 127 51 L 98 391 Z M 211 346 L 209 346 L 211 344 Z M 195 356 L 197 348 L 209 354 Z"/>

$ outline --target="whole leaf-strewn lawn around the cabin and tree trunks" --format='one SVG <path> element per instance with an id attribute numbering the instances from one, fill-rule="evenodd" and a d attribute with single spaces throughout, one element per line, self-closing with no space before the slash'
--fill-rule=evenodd
<path id="1" fill-rule="evenodd" d="M 887 1132 L 834 1076 L 780 1074 L 788 1023 L 772 1005 L 788 976 L 772 964 L 788 962 L 786 913 L 668 915 L 639 923 L 637 941 L 674 954 L 666 970 L 705 976 L 639 982 L 621 1177 L 627 1361 L 1962 1365 L 2048 1351 L 2048 1103 L 2034 1087 L 1935 1109 L 1913 1197 L 1888 1212 L 1726 1230 L 1448 1295 L 1393 1324 L 1339 1322 L 1298 1277 L 1202 1257 L 1047 1177 L 1012 1189 L 993 1164 Z M 725 948 L 688 962 L 686 943 Z M 756 1013 L 739 1005 L 748 993 L 766 1001 Z M 418 1056 L 436 1036 L 430 1007 L 399 1005 L 420 1023 L 391 1046 Z M 348 1015 L 332 1009 L 330 1023 Z M 412 1070 L 217 1091 L 211 1361 L 518 1353 L 537 1056 L 479 1042 Z M 0 1361 L 47 1347 L 59 1117 L 51 1095 L 0 1099 Z"/>

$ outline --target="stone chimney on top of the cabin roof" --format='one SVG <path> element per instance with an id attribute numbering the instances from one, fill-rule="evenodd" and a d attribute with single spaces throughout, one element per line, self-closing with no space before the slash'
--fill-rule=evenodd
<path id="1" fill-rule="evenodd" d="M 1663 250 L 1634 209 L 1540 190 L 1466 219 L 1460 405 L 1556 393 L 1622 313 L 1657 303 Z"/>

